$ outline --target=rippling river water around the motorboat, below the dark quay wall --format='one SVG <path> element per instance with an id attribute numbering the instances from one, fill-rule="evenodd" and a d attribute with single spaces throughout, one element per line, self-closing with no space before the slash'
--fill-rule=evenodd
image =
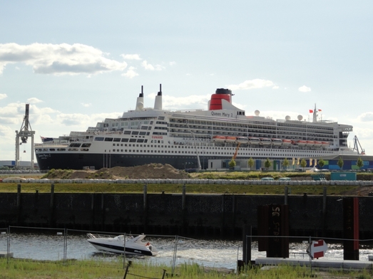
<path id="1" fill-rule="evenodd" d="M 10 251 L 14 258 L 28 258 L 34 260 L 62 260 L 64 236 L 41 233 L 11 233 L 0 234 L 0 251 L 6 251 L 9 236 Z M 85 234 L 67 236 L 66 255 L 68 259 L 105 259 L 111 260 L 123 256 L 111 253 L 101 253 L 86 241 Z M 151 264 L 172 265 L 175 250 L 175 237 L 145 238 L 158 249 L 158 256 L 136 257 L 133 260 L 142 260 Z M 290 243 L 290 258 L 309 257 L 305 254 L 307 243 Z M 373 255 L 372 246 L 361 245 L 359 259 L 368 260 Z M 252 260 L 265 257 L 265 252 L 257 251 L 257 242 L 252 243 Z M 198 263 L 199 265 L 235 269 L 237 260 L 242 259 L 242 241 L 202 241 L 190 238 L 179 238 L 176 265 L 181 263 Z M 343 246 L 341 244 L 328 244 L 325 259 L 342 260 Z"/>

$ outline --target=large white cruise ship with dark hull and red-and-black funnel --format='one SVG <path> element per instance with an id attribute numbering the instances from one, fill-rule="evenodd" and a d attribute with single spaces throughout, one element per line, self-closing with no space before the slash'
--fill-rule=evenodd
<path id="1" fill-rule="evenodd" d="M 347 146 L 351 125 L 299 115 L 272 120 L 246 115 L 232 104 L 232 91 L 217 89 L 208 110 L 169 111 L 162 107 L 162 90 L 154 107 L 144 107 L 143 88 L 136 110 L 106 119 L 86 132 L 48 138 L 35 144 L 39 168 L 101 169 L 161 163 L 177 169 L 208 169 L 209 160 L 272 160 L 357 155 Z"/>

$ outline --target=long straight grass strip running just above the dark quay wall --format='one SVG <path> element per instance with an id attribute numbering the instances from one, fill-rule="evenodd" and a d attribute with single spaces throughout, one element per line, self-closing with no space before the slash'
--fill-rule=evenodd
<path id="1" fill-rule="evenodd" d="M 1 183 L 0 193 L 16 193 L 17 183 Z M 322 195 L 324 186 L 322 185 L 291 185 L 287 186 L 289 194 L 310 194 Z M 327 186 L 328 195 L 342 195 L 350 191 L 357 191 L 359 186 Z M 23 183 L 22 193 L 50 193 L 51 184 Z M 54 184 L 55 193 L 118 193 L 118 194 L 142 194 L 143 184 Z M 187 194 L 275 194 L 283 195 L 285 186 L 283 185 L 242 185 L 242 184 L 185 184 Z M 182 194 L 183 184 L 148 184 L 148 194 Z"/>

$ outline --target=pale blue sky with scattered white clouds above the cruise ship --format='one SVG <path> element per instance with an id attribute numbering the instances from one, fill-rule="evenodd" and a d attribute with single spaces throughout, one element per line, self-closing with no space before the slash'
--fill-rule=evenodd
<path id="1" fill-rule="evenodd" d="M 316 103 L 373 154 L 372 1 L 1 1 L 0 25 L 0 159 L 26 102 L 40 142 L 135 108 L 141 85 L 153 107 L 160 83 L 170 110 L 228 87 L 246 115 Z"/>

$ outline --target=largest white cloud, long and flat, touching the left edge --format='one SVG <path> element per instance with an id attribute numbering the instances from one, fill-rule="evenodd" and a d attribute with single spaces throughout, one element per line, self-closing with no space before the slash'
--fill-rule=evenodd
<path id="1" fill-rule="evenodd" d="M 104 57 L 102 51 L 80 43 L 32 43 L 21 46 L 17 43 L 0 44 L 0 74 L 7 64 L 31 65 L 34 73 L 53 75 L 88 75 L 124 70 L 126 62 Z"/>

